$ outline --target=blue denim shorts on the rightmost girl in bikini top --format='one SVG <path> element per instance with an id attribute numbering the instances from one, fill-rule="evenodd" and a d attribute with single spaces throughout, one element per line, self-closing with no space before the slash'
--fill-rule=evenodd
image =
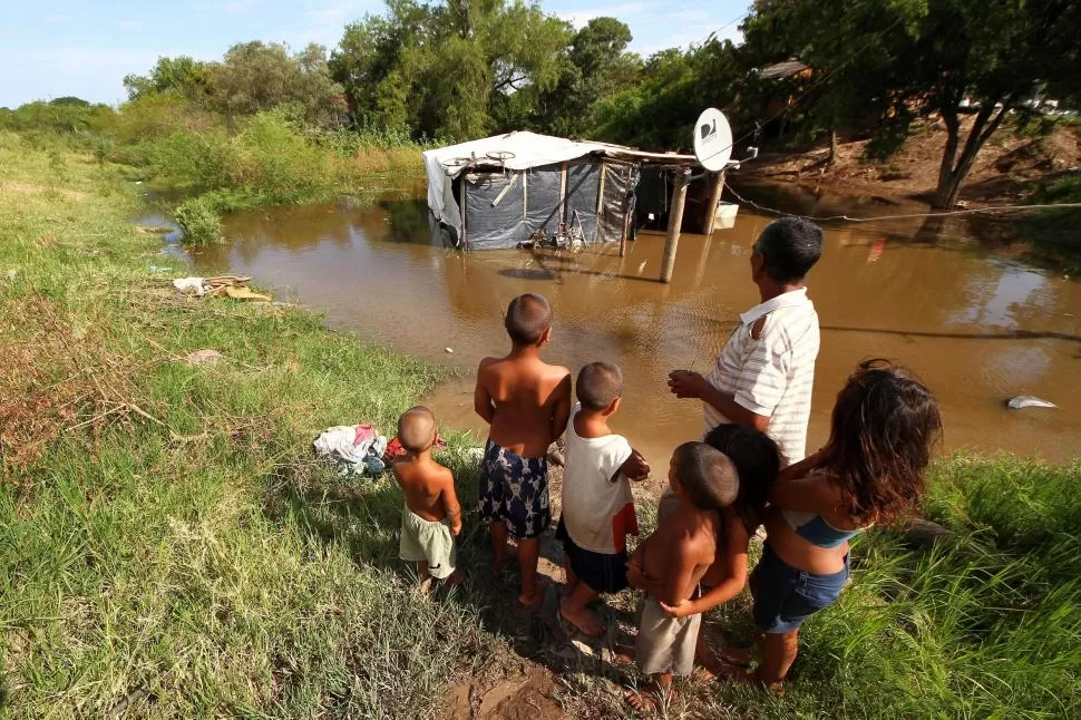
<path id="1" fill-rule="evenodd" d="M 798 630 L 804 621 L 837 602 L 848 582 L 848 555 L 845 567 L 832 575 L 816 575 L 792 567 L 766 543 L 762 560 L 751 573 L 754 596 L 754 624 L 767 633 Z"/>

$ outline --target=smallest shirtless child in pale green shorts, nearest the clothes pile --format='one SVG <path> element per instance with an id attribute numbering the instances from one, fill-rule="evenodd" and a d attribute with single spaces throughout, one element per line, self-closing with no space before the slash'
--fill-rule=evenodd
<path id="1" fill-rule="evenodd" d="M 452 535 L 461 532 L 461 506 L 450 470 L 431 459 L 436 441 L 436 417 L 425 407 L 407 410 L 398 420 L 398 440 L 406 455 L 391 464 L 406 496 L 401 510 L 399 556 L 417 563 L 420 586 L 431 578 L 458 582 Z"/>

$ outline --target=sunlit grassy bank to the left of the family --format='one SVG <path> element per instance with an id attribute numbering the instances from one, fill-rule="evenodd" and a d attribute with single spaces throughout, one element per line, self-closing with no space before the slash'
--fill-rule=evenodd
<path id="1" fill-rule="evenodd" d="M 0 136 L 0 704 L 422 714 L 485 656 L 477 613 L 409 593 L 388 484 L 338 483 L 308 444 L 391 427 L 439 371 L 308 313 L 176 299 L 118 172 L 55 157 Z M 203 348 L 225 360 L 183 361 Z"/>

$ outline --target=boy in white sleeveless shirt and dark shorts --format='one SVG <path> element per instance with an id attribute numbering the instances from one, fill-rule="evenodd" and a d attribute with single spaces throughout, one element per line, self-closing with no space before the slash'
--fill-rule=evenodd
<path id="1" fill-rule="evenodd" d="M 568 591 L 559 612 L 582 633 L 597 638 L 604 625 L 586 606 L 600 593 L 627 586 L 626 536 L 639 534 L 629 479 L 645 479 L 650 466 L 608 428 L 623 396 L 623 371 L 617 366 L 585 366 L 575 392 L 578 405 L 567 424 L 563 510 L 556 531 L 566 552 Z"/>

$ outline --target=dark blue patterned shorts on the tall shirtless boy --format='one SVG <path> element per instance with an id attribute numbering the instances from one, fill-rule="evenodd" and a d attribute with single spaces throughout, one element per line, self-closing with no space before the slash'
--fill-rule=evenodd
<path id="1" fill-rule="evenodd" d="M 524 458 L 489 439 L 479 489 L 481 522 L 504 522 L 515 539 L 538 537 L 552 522 L 546 457 Z"/>

